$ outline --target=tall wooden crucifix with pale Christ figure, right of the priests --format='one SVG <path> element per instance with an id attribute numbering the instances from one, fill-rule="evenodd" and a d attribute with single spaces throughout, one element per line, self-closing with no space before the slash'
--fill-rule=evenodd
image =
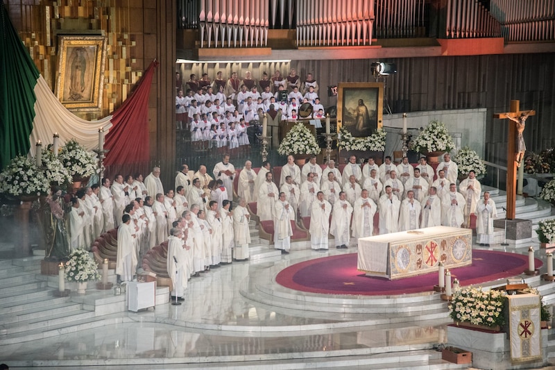
<path id="1" fill-rule="evenodd" d="M 522 132 L 528 116 L 536 115 L 535 110 L 520 110 L 520 101 L 511 100 L 509 112 L 495 113 L 493 118 L 509 119 L 509 137 L 507 143 L 507 210 L 506 219 L 515 219 L 516 215 L 516 178 L 526 146 Z"/>

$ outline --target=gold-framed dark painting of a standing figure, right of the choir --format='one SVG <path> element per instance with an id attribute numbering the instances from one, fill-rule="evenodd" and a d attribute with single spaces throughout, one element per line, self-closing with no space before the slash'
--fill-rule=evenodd
<path id="1" fill-rule="evenodd" d="M 383 126 L 384 83 L 339 83 L 337 85 L 337 129 L 354 137 L 372 135 Z"/>

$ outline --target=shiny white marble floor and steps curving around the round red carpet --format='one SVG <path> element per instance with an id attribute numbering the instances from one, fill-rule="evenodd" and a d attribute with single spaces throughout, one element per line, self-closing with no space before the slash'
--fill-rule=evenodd
<path id="1" fill-rule="evenodd" d="M 277 271 L 301 260 L 355 252 L 302 250 L 268 262 L 233 262 L 191 279 L 182 305 L 114 312 L 83 323 L 75 333 L 60 330 L 45 339 L 7 344 L 0 347 L 0 362 L 22 369 L 461 368 L 446 365 L 434 351 L 447 342 L 450 322 L 447 303 L 436 294 L 393 301 L 378 297 L 375 305 L 365 301 L 363 310 L 353 308 L 350 296 L 318 302 L 321 295 L 293 292 L 273 280 Z M 266 298 L 256 298 L 257 285 L 270 292 L 262 293 Z M 298 301 L 305 301 L 305 308 L 287 306 Z M 417 310 L 411 302 L 429 308 Z M 388 312 L 392 304 L 407 310 Z M 344 310 L 334 312 L 338 305 Z"/>

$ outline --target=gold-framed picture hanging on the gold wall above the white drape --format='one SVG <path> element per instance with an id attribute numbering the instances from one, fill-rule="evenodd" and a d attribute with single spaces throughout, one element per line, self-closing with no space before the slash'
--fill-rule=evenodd
<path id="1" fill-rule="evenodd" d="M 106 44 L 104 36 L 59 36 L 56 96 L 68 109 L 102 109 Z"/>

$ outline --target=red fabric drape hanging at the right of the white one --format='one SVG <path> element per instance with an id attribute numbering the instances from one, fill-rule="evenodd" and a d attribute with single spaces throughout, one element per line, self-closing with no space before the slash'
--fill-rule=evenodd
<path id="1" fill-rule="evenodd" d="M 110 149 L 104 165 L 148 162 L 148 96 L 158 62 L 153 60 L 144 72 L 135 92 L 113 113 L 112 128 L 105 136 L 105 149 Z"/>

